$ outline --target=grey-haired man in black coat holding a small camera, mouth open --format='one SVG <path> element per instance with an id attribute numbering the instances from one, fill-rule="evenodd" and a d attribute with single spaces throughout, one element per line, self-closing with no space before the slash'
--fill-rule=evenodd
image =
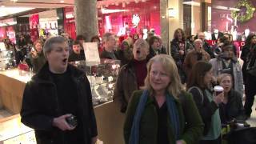
<path id="1" fill-rule="evenodd" d="M 98 132 L 86 74 L 68 65 L 65 38 L 46 40 L 43 52 L 46 65 L 24 90 L 22 123 L 34 129 L 38 144 L 94 144 Z"/>

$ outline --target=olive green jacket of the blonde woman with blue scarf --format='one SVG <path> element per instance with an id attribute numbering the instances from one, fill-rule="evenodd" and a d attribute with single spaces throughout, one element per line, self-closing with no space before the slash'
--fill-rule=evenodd
<path id="1" fill-rule="evenodd" d="M 124 138 L 126 144 L 129 144 L 130 131 L 134 121 L 142 90 L 134 91 L 134 94 L 126 111 L 126 121 L 124 124 Z M 204 124 L 198 113 L 192 96 L 186 92 L 182 92 L 179 98 L 176 99 L 176 106 L 180 118 L 180 135 L 181 139 L 187 144 L 198 143 L 202 136 Z M 175 144 L 174 131 L 170 125 L 170 119 L 167 117 L 168 139 L 170 144 Z M 158 113 L 154 105 L 154 99 L 149 97 L 146 101 L 146 107 L 143 111 L 140 129 L 139 129 L 139 144 L 158 144 Z"/>

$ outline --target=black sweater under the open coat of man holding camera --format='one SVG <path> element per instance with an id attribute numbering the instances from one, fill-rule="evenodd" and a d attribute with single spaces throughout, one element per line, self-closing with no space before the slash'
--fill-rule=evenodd
<path id="1" fill-rule="evenodd" d="M 51 78 L 54 80 L 58 95 L 58 114 L 59 116 L 64 114 L 73 114 L 78 118 L 78 126 L 74 130 L 62 131 L 62 134 L 56 135 L 58 142 L 63 143 L 63 138 L 66 139 L 66 144 L 70 142 L 82 143 L 84 141 L 82 131 L 82 120 L 78 111 L 78 94 L 74 85 L 74 81 L 71 79 L 69 71 L 64 74 L 53 74 L 50 72 Z M 65 143 L 65 142 L 64 142 Z"/>

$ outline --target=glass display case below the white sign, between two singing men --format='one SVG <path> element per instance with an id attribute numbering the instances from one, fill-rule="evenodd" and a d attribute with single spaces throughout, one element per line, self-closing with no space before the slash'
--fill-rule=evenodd
<path id="1" fill-rule="evenodd" d="M 73 64 L 86 72 L 94 106 L 113 100 L 114 85 L 120 69 L 119 60 L 101 59 L 100 64 L 94 66 L 86 66 L 86 61 L 77 61 Z"/>

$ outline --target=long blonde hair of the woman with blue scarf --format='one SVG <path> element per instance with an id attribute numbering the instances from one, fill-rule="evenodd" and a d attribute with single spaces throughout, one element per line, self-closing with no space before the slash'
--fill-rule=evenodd
<path id="1" fill-rule="evenodd" d="M 150 91 L 150 95 L 154 94 L 152 86 L 150 86 L 150 70 L 154 62 L 160 62 L 166 73 L 170 76 L 170 84 L 167 86 L 166 91 L 169 94 L 172 94 L 174 98 L 178 98 L 178 95 L 181 94 L 183 90 L 182 82 L 178 74 L 178 68 L 174 62 L 174 59 L 170 55 L 158 54 L 151 58 L 147 63 L 146 69 L 147 74 L 145 78 L 145 86 L 142 88 Z"/>

